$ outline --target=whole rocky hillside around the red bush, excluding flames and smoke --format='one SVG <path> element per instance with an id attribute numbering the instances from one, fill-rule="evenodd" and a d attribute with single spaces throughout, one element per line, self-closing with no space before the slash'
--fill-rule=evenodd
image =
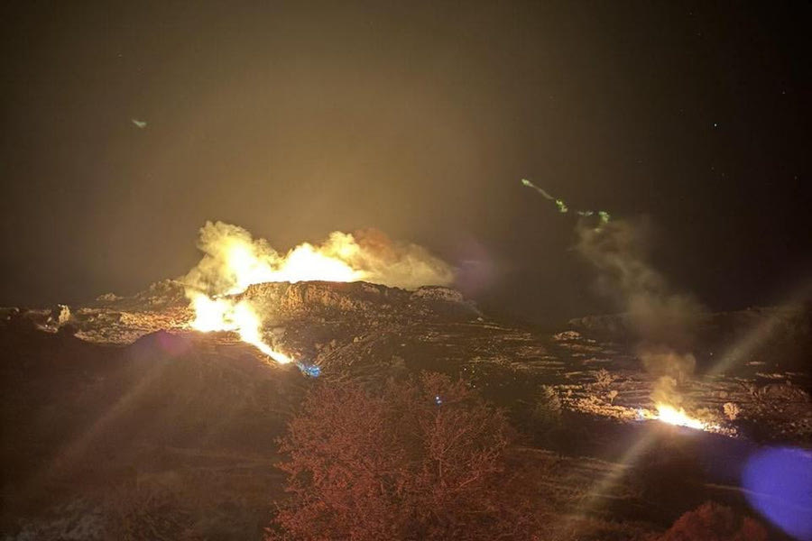
<path id="1" fill-rule="evenodd" d="M 717 433 L 697 434 L 644 420 L 655 379 L 623 316 L 512 326 L 452 289 L 363 282 L 259 284 L 243 295 L 265 307 L 266 340 L 318 365 L 321 378 L 375 385 L 444 371 L 509 408 L 525 435 L 517 453 L 545 472 L 540 494 L 567 531 L 632 538 L 708 498 L 743 505 L 735 475 L 709 475 L 707 463 L 761 443 L 812 443 L 808 307 L 706 316 L 697 371 L 678 386 L 683 406 Z M 104 538 L 111 517 L 142 524 L 128 513 L 161 518 L 182 501 L 187 511 L 161 518 L 178 531 L 261 536 L 282 495 L 274 438 L 312 379 L 234 334 L 190 331 L 190 318 L 171 280 L 83 307 L 0 310 L 0 531 Z M 626 472 L 640 440 L 649 444 L 637 467 L 654 474 Z M 663 489 L 671 478 L 690 490 Z"/>

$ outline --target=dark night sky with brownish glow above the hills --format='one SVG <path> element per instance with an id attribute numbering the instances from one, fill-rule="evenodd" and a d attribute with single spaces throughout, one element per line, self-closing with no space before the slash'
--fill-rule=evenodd
<path id="1" fill-rule="evenodd" d="M 716 309 L 812 271 L 807 2 L 8 4 L 0 305 L 178 276 L 221 219 L 379 228 L 509 316 L 611 309 L 522 177 L 647 215 Z"/>

